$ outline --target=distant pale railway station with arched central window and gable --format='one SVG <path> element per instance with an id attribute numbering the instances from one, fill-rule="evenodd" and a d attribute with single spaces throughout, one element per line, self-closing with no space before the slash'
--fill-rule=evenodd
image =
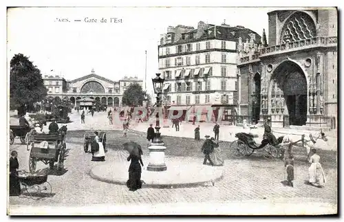
<path id="1" fill-rule="evenodd" d="M 60 76 L 45 76 L 47 96 L 50 98 L 68 98 L 74 107 L 79 105 L 78 100 L 92 98 L 108 107 L 121 107 L 122 96 L 127 87 L 136 82 L 142 87 L 143 80 L 137 77 L 125 77 L 118 81 L 98 76 L 92 69 L 91 74 L 67 81 Z"/>

